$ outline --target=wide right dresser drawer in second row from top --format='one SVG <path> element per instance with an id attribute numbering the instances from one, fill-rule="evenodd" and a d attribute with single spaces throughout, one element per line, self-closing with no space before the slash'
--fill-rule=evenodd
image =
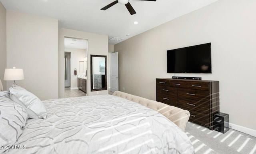
<path id="1" fill-rule="evenodd" d="M 189 98 L 198 101 L 207 101 L 209 100 L 209 92 L 205 90 L 178 88 L 178 97 L 181 99 Z"/>

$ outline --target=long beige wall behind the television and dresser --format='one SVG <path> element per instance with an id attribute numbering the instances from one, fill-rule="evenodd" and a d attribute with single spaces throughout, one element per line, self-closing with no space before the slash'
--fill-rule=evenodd
<path id="1" fill-rule="evenodd" d="M 220 111 L 255 132 L 255 14 L 255 0 L 220 0 L 114 45 L 120 90 L 156 100 L 156 78 L 174 76 L 166 50 L 212 42 L 212 74 L 176 76 L 219 80 Z"/>

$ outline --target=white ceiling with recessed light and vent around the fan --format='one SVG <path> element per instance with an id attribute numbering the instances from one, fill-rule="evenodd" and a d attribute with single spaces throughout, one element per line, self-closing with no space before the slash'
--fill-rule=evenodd
<path id="1" fill-rule="evenodd" d="M 124 38 L 145 32 L 174 18 L 218 0 L 130 0 L 137 12 L 130 15 L 126 6 L 117 3 L 100 10 L 115 0 L 0 0 L 7 10 L 59 20 L 59 27 Z M 138 24 L 133 24 L 137 21 Z M 126 36 L 129 34 L 130 36 Z M 120 41 L 111 41 L 116 44 Z"/>

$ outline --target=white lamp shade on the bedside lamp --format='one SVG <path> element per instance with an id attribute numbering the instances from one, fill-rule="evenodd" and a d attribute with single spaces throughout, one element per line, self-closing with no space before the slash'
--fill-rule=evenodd
<path id="1" fill-rule="evenodd" d="M 22 68 L 6 68 L 4 70 L 4 80 L 24 80 Z"/>

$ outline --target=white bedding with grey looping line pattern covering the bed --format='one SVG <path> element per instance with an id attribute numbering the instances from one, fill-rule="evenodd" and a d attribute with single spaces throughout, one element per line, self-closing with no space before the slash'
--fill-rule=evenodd
<path id="1" fill-rule="evenodd" d="M 28 119 L 8 154 L 194 154 L 162 114 L 112 95 L 42 101 L 46 119 Z M 26 147 L 26 148 L 24 148 Z"/>

